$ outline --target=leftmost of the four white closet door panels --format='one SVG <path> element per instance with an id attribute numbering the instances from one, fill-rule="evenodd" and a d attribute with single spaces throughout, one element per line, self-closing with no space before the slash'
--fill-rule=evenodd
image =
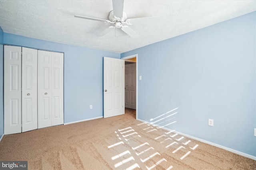
<path id="1" fill-rule="evenodd" d="M 4 134 L 21 133 L 21 47 L 4 45 Z"/>

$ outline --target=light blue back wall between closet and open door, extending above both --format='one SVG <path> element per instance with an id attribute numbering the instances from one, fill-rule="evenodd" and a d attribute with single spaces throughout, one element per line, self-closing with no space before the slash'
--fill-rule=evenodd
<path id="1" fill-rule="evenodd" d="M 64 123 L 103 116 L 103 57 L 120 54 L 10 33 L 4 44 L 64 52 Z"/>

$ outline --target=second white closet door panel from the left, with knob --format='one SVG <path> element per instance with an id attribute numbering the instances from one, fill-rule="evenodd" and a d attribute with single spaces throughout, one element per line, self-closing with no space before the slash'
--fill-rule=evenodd
<path id="1" fill-rule="evenodd" d="M 22 132 L 37 129 L 37 50 L 22 47 Z"/>

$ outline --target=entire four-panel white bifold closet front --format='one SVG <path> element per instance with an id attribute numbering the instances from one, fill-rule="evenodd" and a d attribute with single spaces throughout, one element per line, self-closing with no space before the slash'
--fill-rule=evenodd
<path id="1" fill-rule="evenodd" d="M 64 54 L 4 45 L 4 134 L 64 123 Z"/>

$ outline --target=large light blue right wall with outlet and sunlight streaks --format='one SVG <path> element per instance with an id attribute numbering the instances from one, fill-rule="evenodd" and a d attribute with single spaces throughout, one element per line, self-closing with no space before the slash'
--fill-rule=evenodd
<path id="1" fill-rule="evenodd" d="M 138 54 L 138 119 L 256 156 L 255 22 L 252 12 L 122 53 Z"/>

